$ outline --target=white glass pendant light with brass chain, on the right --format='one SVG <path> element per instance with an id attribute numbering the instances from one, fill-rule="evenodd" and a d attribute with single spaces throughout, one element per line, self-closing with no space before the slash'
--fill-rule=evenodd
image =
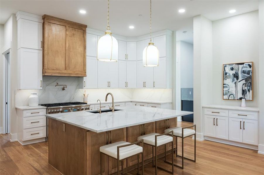
<path id="1" fill-rule="evenodd" d="M 159 50 L 151 41 L 151 0 L 150 0 L 150 42 L 143 50 L 143 65 L 146 67 L 159 66 Z"/>

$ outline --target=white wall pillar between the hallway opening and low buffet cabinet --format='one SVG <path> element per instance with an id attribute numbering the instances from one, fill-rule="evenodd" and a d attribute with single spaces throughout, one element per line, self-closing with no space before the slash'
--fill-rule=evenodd
<path id="1" fill-rule="evenodd" d="M 202 105 L 212 103 L 212 21 L 193 18 L 193 119 L 197 139 L 203 140 Z"/>

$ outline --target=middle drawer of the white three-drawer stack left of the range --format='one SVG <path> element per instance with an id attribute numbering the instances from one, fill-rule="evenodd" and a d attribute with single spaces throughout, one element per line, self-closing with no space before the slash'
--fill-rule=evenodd
<path id="1" fill-rule="evenodd" d="M 24 117 L 23 118 L 23 129 L 46 126 L 45 115 Z"/>

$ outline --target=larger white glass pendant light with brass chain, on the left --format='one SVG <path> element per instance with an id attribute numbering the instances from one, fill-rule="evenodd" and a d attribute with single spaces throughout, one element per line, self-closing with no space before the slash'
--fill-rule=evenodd
<path id="1" fill-rule="evenodd" d="M 105 35 L 99 38 L 97 44 L 97 60 L 107 62 L 117 62 L 118 60 L 118 43 L 115 37 L 112 36 L 109 26 L 109 0 L 108 0 L 108 15 L 107 27 Z"/>

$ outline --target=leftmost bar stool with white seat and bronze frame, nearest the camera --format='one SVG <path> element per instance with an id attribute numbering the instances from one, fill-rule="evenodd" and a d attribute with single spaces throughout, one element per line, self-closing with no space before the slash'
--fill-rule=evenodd
<path id="1" fill-rule="evenodd" d="M 139 146 L 139 143 L 142 143 L 142 146 Z M 100 147 L 100 163 L 101 163 L 101 175 L 102 175 L 102 154 L 112 157 L 117 160 L 117 174 L 123 173 L 123 160 L 137 155 L 137 174 L 139 174 L 139 155 L 142 155 L 142 174 L 144 175 L 144 160 L 143 160 L 143 140 L 139 140 L 135 143 L 129 143 L 125 141 L 118 141 L 108 145 Z M 121 161 L 121 172 L 119 170 Z M 114 173 L 116 174 L 116 173 Z"/>

